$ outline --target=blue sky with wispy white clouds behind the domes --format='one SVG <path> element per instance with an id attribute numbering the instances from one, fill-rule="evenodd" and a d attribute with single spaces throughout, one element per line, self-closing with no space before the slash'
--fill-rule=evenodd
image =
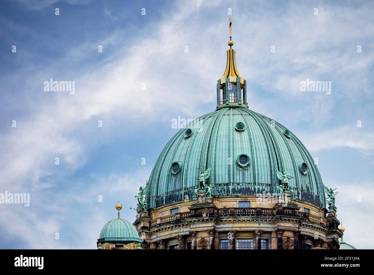
<path id="1" fill-rule="evenodd" d="M 0 248 L 95 249 L 117 201 L 135 221 L 172 120 L 215 110 L 230 17 L 249 109 L 318 158 L 344 241 L 374 248 L 373 1 L 0 6 L 0 193 L 30 194 L 28 207 L 0 204 Z M 45 91 L 50 79 L 74 81 L 74 93 Z M 301 91 L 307 79 L 331 93 Z"/>

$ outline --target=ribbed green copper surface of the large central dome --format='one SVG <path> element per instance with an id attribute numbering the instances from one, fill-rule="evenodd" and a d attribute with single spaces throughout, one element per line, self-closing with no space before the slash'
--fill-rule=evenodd
<path id="1" fill-rule="evenodd" d="M 244 131 L 235 129 L 238 122 Z M 186 133 L 188 128 L 192 135 Z M 191 122 L 171 138 L 157 159 L 148 183 L 148 208 L 193 198 L 193 189 L 199 186 L 197 169 L 205 171 L 209 166 L 212 196 L 278 193 L 278 170 L 293 177 L 289 186 L 299 199 L 325 207 L 318 168 L 300 140 L 287 131 L 286 137 L 285 130 L 246 108 L 224 108 Z M 242 154 L 249 157 L 246 167 L 237 163 Z M 174 162 L 180 172 L 171 171 Z M 307 166 L 306 174 L 301 171 L 302 163 Z"/>

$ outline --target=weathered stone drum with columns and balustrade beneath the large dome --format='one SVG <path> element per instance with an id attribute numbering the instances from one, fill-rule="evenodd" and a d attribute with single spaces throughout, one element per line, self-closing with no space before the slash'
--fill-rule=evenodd
<path id="1" fill-rule="evenodd" d="M 240 208 L 240 201 L 250 207 Z M 304 201 L 217 196 L 138 213 L 134 226 L 145 249 L 337 249 L 338 224 L 334 212 Z"/>

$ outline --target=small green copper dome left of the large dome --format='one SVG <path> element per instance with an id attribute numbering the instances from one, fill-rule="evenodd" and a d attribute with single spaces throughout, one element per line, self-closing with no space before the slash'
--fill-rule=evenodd
<path id="1" fill-rule="evenodd" d="M 102 227 L 98 242 L 141 242 L 141 239 L 132 223 L 117 218 Z"/>

